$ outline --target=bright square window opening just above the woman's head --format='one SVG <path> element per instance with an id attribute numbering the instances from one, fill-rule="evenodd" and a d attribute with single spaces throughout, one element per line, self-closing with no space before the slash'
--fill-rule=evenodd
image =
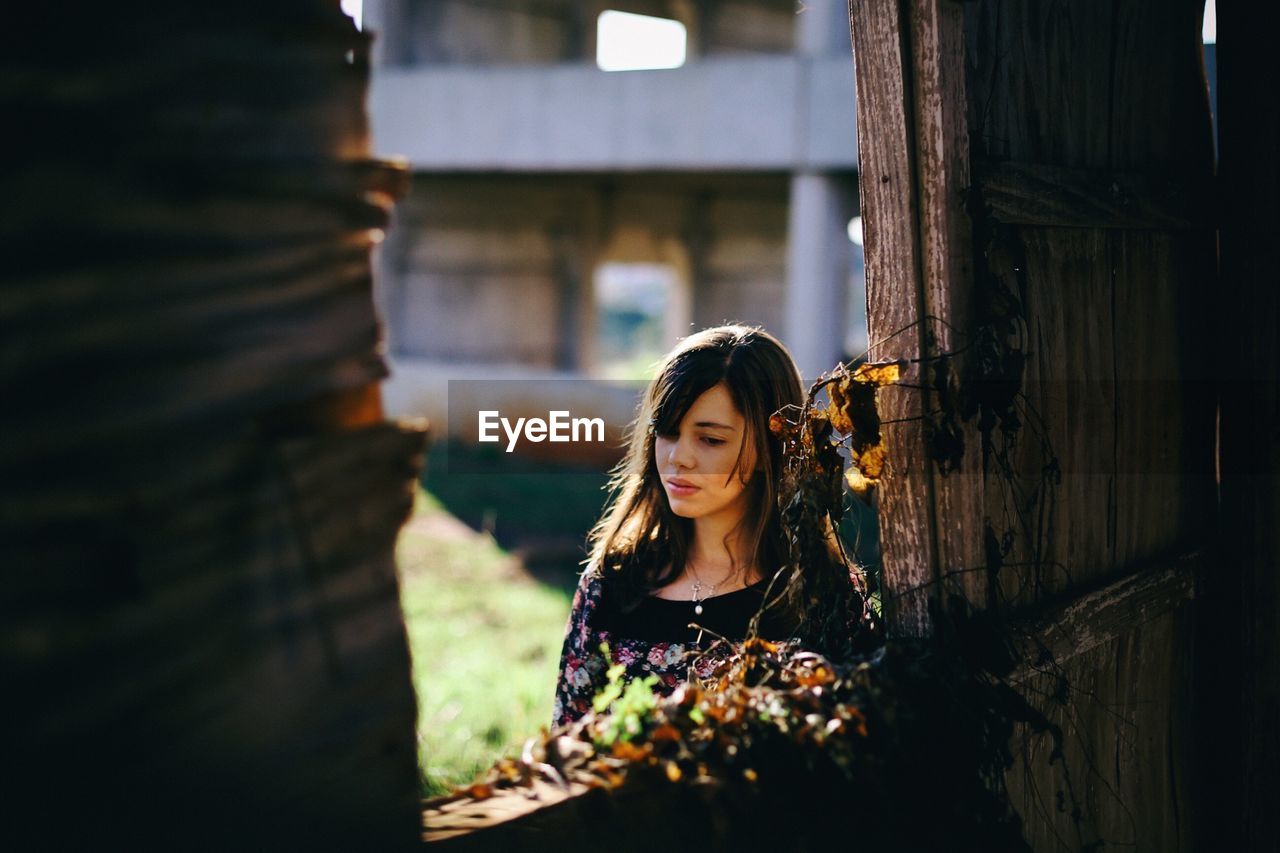
<path id="1" fill-rule="evenodd" d="M 600 264 L 595 270 L 596 374 L 648 379 L 671 347 L 668 315 L 680 279 L 667 264 Z"/>

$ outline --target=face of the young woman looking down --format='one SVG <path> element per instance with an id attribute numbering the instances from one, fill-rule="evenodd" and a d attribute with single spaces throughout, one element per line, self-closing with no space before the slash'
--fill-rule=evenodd
<path id="1" fill-rule="evenodd" d="M 671 511 L 686 519 L 726 514 L 726 520 L 736 523 L 748 501 L 736 466 L 745 438 L 746 419 L 723 382 L 694 401 L 675 434 L 655 435 L 654 467 Z M 741 470 L 755 470 L 750 446 L 742 452 Z"/>

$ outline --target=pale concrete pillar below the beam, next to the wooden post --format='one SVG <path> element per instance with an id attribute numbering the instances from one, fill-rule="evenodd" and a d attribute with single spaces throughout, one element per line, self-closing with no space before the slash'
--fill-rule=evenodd
<path id="1" fill-rule="evenodd" d="M 806 380 L 831 370 L 845 346 L 849 223 L 844 190 L 829 175 L 791 178 L 783 342 Z"/>

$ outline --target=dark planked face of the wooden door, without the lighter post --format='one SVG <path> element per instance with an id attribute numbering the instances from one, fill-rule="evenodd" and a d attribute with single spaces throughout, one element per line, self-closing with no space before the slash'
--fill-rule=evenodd
<path id="1" fill-rule="evenodd" d="M 997 532 L 1014 533 L 1000 594 L 1015 607 L 1207 544 L 1213 394 L 1192 342 L 1215 210 L 1193 6 L 965 5 L 974 186 L 1025 324 L 1012 476 L 987 492 Z M 1025 683 L 1066 736 L 1062 762 L 1042 744 L 1010 774 L 1033 849 L 1192 845 L 1199 601 L 1146 624 L 1130 610 L 1176 601 L 1184 587 L 1166 580 L 1121 580 L 1115 607 L 1087 597 L 1043 626 L 1061 654 L 1092 648 L 1062 667 L 1068 693 Z M 1098 624 L 1080 630 L 1088 602 Z"/>

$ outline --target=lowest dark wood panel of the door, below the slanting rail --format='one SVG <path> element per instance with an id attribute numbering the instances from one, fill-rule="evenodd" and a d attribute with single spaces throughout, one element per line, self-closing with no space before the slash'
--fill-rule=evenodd
<path id="1" fill-rule="evenodd" d="M 1061 676 L 1037 674 L 1018 685 L 1062 731 L 1061 754 L 1048 734 L 1019 725 L 1010 802 L 1033 850 L 1190 850 L 1192 798 L 1185 721 L 1192 701 L 1189 606 L 1076 654 Z"/>

